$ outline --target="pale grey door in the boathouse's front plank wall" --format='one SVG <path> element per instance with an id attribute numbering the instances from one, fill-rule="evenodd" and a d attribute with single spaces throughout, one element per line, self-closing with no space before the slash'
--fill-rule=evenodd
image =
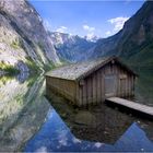
<path id="1" fill-rule="evenodd" d="M 117 92 L 117 76 L 116 75 L 105 75 L 104 79 L 105 97 L 115 96 Z"/>

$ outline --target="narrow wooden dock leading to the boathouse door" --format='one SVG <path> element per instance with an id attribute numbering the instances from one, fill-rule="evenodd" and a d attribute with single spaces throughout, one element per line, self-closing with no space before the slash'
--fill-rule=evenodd
<path id="1" fill-rule="evenodd" d="M 114 104 L 117 106 L 122 106 L 126 107 L 128 109 L 131 109 L 133 113 L 141 113 L 142 115 L 149 116 L 153 118 L 153 107 L 143 105 L 143 104 L 138 104 L 136 102 L 131 102 L 128 99 L 123 99 L 123 98 L 119 98 L 119 97 L 110 97 L 106 99 L 106 103 L 109 104 Z"/>

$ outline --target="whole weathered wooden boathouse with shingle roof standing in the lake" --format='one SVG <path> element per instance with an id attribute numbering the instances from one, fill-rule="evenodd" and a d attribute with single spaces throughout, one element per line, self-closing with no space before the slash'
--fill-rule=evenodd
<path id="1" fill-rule="evenodd" d="M 134 92 L 136 75 L 116 57 L 79 62 L 47 72 L 46 94 L 49 97 L 54 90 L 78 106 L 111 96 L 129 97 Z"/>

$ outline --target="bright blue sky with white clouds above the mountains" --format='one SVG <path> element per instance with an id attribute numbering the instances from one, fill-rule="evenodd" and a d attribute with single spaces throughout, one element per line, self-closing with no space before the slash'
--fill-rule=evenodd
<path id="1" fill-rule="evenodd" d="M 30 0 L 51 32 L 108 37 L 143 4 L 141 1 L 56 1 Z"/>

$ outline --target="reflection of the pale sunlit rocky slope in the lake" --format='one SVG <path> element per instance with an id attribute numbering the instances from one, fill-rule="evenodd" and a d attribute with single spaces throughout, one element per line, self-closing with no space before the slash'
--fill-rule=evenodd
<path id="1" fill-rule="evenodd" d="M 0 152 L 19 151 L 48 111 L 44 78 L 26 76 L 0 79 Z"/>

